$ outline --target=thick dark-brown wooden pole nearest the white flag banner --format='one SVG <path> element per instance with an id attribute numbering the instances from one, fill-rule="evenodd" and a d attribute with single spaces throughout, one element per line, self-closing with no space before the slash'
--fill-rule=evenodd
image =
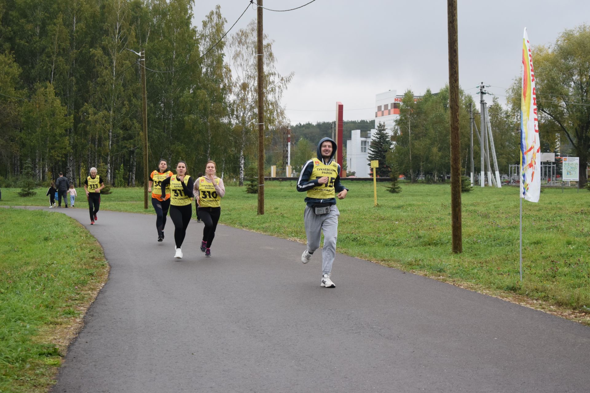
<path id="1" fill-rule="evenodd" d="M 451 115 L 451 227 L 453 252 L 463 252 L 461 235 L 461 139 L 459 135 L 459 61 L 457 39 L 457 0 L 447 0 L 448 85 Z"/>

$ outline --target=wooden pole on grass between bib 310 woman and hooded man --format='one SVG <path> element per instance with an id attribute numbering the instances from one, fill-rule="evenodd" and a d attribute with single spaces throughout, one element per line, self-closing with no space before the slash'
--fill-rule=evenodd
<path id="1" fill-rule="evenodd" d="M 264 214 L 264 55 L 262 40 L 262 0 L 257 8 L 257 45 L 256 58 L 258 68 L 258 214 Z"/>

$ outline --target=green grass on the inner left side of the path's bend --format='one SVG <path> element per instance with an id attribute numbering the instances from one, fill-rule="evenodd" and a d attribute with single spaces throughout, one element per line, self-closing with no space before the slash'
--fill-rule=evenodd
<path id="1" fill-rule="evenodd" d="M 0 209 L 0 255 L 0 392 L 46 392 L 106 279 L 102 249 L 64 214 Z"/>

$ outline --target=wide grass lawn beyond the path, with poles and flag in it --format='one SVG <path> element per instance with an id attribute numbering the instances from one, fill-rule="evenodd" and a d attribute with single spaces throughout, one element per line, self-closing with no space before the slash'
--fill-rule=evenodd
<path id="1" fill-rule="evenodd" d="M 463 253 L 451 253 L 450 185 L 402 183 L 402 193 L 378 183 L 343 181 L 350 192 L 339 201 L 337 251 L 383 265 L 418 272 L 491 294 L 539 300 L 590 321 L 590 193 L 544 189 L 539 203 L 523 202 L 523 283 L 519 280 L 518 189 L 476 187 L 462 194 Z M 269 235 L 305 240 L 303 193 L 295 181 L 266 183 L 265 213 L 257 196 L 227 186 L 220 222 Z M 153 213 L 143 209 L 143 189 L 113 189 L 101 209 Z M 45 190 L 21 198 L 3 189 L 0 204 L 46 205 Z M 83 189 L 78 189 L 79 194 Z M 76 207 L 86 208 L 78 197 Z M 336 261 L 337 270 L 337 261 Z"/>

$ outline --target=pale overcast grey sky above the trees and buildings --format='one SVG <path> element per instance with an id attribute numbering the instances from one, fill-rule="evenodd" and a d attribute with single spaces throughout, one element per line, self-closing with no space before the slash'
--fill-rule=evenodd
<path id="1" fill-rule="evenodd" d="M 309 0 L 264 0 L 290 9 Z M 226 29 L 249 0 L 196 0 L 194 23 L 221 5 Z M 256 18 L 251 7 L 230 34 Z M 448 82 L 445 0 L 316 0 L 289 12 L 264 10 L 264 33 L 274 40 L 278 71 L 294 72 L 283 95 L 291 123 L 335 120 L 336 101 L 345 120 L 372 120 L 375 94 L 408 88 L 422 94 Z M 564 29 L 590 21 L 590 1 L 458 0 L 459 82 L 476 93 L 481 81 L 501 95 L 520 72 L 522 36 L 549 45 Z M 533 64 L 535 59 L 533 58 Z M 490 100 L 491 101 L 491 100 Z"/>

